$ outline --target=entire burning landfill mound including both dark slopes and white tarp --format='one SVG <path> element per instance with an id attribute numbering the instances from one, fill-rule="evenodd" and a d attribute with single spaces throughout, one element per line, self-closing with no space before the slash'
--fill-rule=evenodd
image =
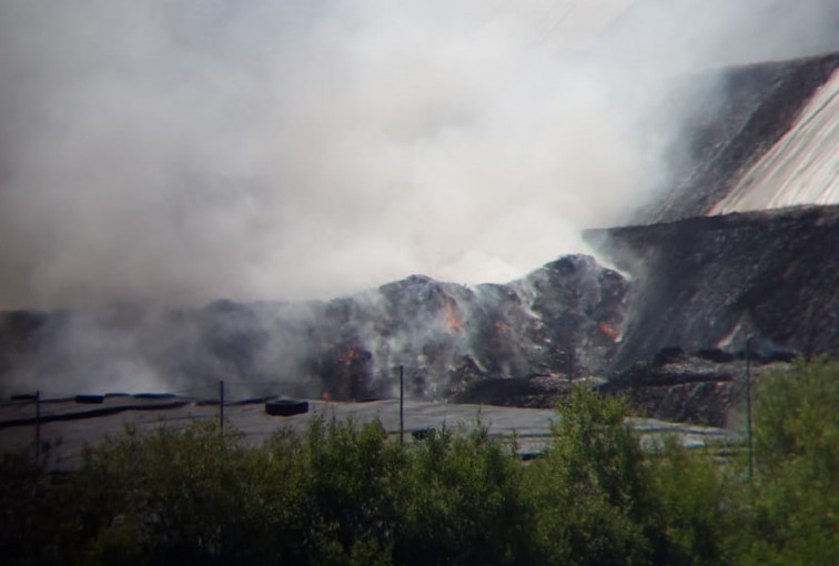
<path id="1" fill-rule="evenodd" d="M 396 395 L 403 372 L 416 398 L 549 406 L 588 378 L 651 415 L 725 424 L 747 340 L 767 364 L 839 355 L 839 52 L 722 77 L 671 188 L 634 225 L 584 233 L 597 260 L 565 255 L 505 284 L 412 275 L 333 300 L 7 311 L 0 392 L 228 380 L 364 401 Z M 718 81 L 688 82 L 706 79 Z"/>

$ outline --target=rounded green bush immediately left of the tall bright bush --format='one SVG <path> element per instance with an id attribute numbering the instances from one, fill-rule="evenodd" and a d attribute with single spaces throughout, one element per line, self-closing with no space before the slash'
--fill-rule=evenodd
<path id="1" fill-rule="evenodd" d="M 533 513 L 513 451 L 478 425 L 436 431 L 401 475 L 398 564 L 527 564 Z"/>

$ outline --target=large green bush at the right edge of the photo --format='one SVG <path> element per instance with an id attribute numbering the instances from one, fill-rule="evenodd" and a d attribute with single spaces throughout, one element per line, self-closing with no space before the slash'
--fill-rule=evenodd
<path id="1" fill-rule="evenodd" d="M 839 564 L 839 363 L 765 377 L 745 564 Z"/>

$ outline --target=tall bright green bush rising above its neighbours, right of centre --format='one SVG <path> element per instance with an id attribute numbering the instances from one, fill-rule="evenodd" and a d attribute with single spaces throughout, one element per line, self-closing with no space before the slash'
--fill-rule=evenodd
<path id="1" fill-rule="evenodd" d="M 647 471 L 625 403 L 578 386 L 558 411 L 556 441 L 529 469 L 540 562 L 644 564 Z"/>

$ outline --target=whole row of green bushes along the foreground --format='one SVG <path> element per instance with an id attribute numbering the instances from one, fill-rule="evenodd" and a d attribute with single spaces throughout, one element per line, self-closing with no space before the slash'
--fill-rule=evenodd
<path id="1" fill-rule="evenodd" d="M 760 384 L 755 474 L 665 442 L 577 388 L 523 464 L 485 428 L 401 444 L 314 418 L 261 447 L 215 426 L 132 431 L 51 477 L 7 456 L 0 550 L 18 564 L 839 564 L 839 364 Z M 742 451 L 745 453 L 745 451 Z"/>

